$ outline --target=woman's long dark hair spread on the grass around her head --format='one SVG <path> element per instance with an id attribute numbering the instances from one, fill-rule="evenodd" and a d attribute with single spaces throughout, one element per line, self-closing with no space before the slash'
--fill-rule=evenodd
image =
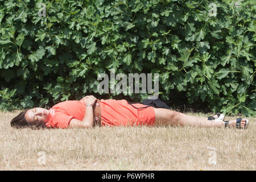
<path id="1" fill-rule="evenodd" d="M 38 122 L 35 125 L 31 125 L 27 122 L 25 118 L 25 114 L 28 110 L 24 110 L 19 113 L 15 118 L 11 119 L 11 127 L 15 127 L 16 129 L 24 128 L 24 127 L 31 127 L 32 129 L 40 129 L 45 128 L 46 125 L 42 122 Z"/>

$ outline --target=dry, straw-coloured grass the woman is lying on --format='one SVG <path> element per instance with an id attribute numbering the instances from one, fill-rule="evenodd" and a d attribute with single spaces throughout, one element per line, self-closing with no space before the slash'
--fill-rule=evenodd
<path id="1" fill-rule="evenodd" d="M 247 130 L 195 127 L 13 129 L 10 120 L 18 113 L 0 113 L 0 170 L 256 169 L 256 118 L 248 118 Z"/>

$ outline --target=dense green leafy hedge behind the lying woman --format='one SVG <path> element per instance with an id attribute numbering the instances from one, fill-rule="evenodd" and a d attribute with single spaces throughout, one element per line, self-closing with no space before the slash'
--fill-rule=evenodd
<path id="1" fill-rule="evenodd" d="M 254 0 L 0 0 L 0 109 L 97 94 L 97 75 L 114 68 L 159 73 L 162 100 L 184 93 L 255 115 L 255 10 Z"/>

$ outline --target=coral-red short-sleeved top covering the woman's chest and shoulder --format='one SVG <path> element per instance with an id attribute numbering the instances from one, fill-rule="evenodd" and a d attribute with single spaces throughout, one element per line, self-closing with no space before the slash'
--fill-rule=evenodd
<path id="1" fill-rule="evenodd" d="M 82 121 L 85 115 L 85 103 L 84 100 L 64 101 L 54 105 L 49 111 L 51 118 L 46 126 L 67 129 L 72 118 Z"/>

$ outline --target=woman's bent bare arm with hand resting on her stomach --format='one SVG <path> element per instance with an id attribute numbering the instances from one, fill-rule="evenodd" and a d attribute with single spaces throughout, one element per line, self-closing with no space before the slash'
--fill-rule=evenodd
<path id="1" fill-rule="evenodd" d="M 79 127 L 79 128 L 90 128 L 93 127 L 93 105 L 94 102 L 96 101 L 96 98 L 93 96 L 86 96 L 83 98 L 85 101 L 85 105 L 91 105 L 91 106 L 86 106 L 86 113 L 84 115 L 84 118 L 82 121 L 79 119 L 71 119 L 69 122 L 69 127 L 74 128 L 74 127 Z"/>

